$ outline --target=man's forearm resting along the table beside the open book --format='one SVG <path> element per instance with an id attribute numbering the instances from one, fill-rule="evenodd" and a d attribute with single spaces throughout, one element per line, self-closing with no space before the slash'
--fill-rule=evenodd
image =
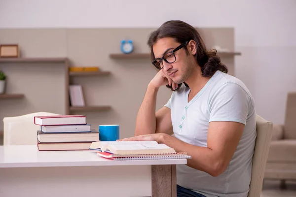
<path id="1" fill-rule="evenodd" d="M 174 148 L 176 152 L 186 152 L 190 155 L 192 159 L 187 160 L 189 167 L 207 172 L 212 176 L 218 176 L 225 170 L 224 161 L 208 147 L 188 144 L 167 134 L 162 134 L 158 142 Z"/>

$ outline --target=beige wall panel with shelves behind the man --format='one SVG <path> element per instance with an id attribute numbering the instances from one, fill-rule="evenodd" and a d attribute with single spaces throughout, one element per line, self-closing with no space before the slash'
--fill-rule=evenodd
<path id="1" fill-rule="evenodd" d="M 37 111 L 86 115 L 98 130 L 101 124 L 119 124 L 120 137 L 133 136 L 138 109 L 149 81 L 157 73 L 150 63 L 147 37 L 155 28 L 84 29 L 0 29 L 0 41 L 19 44 L 21 58 L 0 59 L 7 75 L 6 94 L 23 98 L 0 99 L 0 117 Z M 209 48 L 215 45 L 229 52 L 219 53 L 234 75 L 233 28 L 199 28 Z M 122 39 L 132 39 L 134 51 L 120 51 Z M 137 55 L 140 54 L 140 57 Z M 147 54 L 142 57 L 143 54 Z M 97 66 L 102 75 L 72 75 L 68 66 Z M 110 74 L 104 74 L 110 72 Z M 100 72 L 99 72 L 100 73 Z M 77 74 L 77 73 L 76 73 Z M 69 84 L 82 86 L 86 107 L 69 108 Z M 169 100 L 172 91 L 161 87 L 156 110 Z M 103 109 L 96 107 L 102 107 Z M 33 121 L 33 120 L 32 120 Z"/>

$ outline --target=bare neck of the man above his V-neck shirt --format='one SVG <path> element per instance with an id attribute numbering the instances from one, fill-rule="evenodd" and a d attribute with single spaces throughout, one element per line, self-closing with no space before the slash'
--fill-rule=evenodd
<path id="1" fill-rule="evenodd" d="M 200 67 L 196 66 L 192 70 L 190 77 L 185 81 L 190 88 L 191 95 L 196 95 L 210 80 L 210 77 L 203 77 L 201 74 Z"/>

